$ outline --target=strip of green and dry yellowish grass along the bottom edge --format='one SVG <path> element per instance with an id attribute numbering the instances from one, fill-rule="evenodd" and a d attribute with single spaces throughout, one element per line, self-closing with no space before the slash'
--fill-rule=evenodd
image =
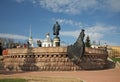
<path id="1" fill-rule="evenodd" d="M 20 78 L 4 78 L 0 82 L 84 82 L 77 78 L 64 78 L 64 77 L 26 77 Z"/>

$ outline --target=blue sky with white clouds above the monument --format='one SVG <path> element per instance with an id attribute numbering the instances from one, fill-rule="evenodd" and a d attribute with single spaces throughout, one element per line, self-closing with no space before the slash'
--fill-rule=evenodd
<path id="1" fill-rule="evenodd" d="M 120 46 L 120 0 L 0 0 L 0 37 L 26 41 L 53 38 L 58 21 L 60 38 L 73 44 L 81 29 L 91 42 Z"/>

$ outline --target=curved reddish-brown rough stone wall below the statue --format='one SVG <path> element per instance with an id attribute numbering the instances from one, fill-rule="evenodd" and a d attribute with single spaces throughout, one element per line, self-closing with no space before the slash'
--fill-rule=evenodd
<path id="1" fill-rule="evenodd" d="M 7 53 L 4 55 L 4 68 L 12 71 L 70 71 L 81 70 L 81 65 L 87 67 L 85 62 L 76 65 L 68 55 L 67 47 L 7 49 Z M 103 50 L 86 48 L 84 58 L 87 60 L 102 59 L 101 65 L 103 65 L 107 54 Z M 100 65 L 100 62 L 98 63 Z"/>

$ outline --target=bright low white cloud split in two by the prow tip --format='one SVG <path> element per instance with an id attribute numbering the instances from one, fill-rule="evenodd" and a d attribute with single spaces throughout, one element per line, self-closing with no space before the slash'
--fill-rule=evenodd
<path id="1" fill-rule="evenodd" d="M 100 40 L 105 36 L 106 33 L 110 33 L 113 30 L 116 30 L 116 28 L 113 26 L 96 24 L 94 26 L 85 28 L 85 34 L 89 35 L 92 40 Z M 61 35 L 78 37 L 80 34 L 80 31 L 81 29 L 74 30 L 74 31 L 62 31 Z"/>

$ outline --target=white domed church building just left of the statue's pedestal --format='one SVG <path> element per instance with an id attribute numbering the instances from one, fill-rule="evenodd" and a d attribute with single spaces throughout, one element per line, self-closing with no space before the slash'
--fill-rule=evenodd
<path id="1" fill-rule="evenodd" d="M 46 38 L 42 42 L 42 47 L 52 47 L 52 39 L 50 38 L 50 34 L 46 34 Z"/>

